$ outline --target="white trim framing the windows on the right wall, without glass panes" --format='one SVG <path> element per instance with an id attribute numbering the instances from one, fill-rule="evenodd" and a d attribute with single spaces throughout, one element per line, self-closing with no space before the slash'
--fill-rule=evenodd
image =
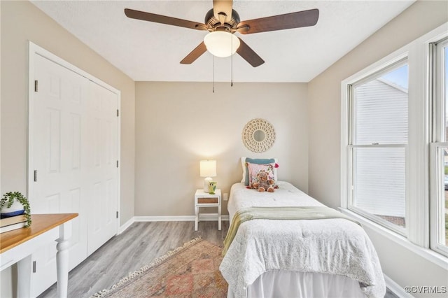
<path id="1" fill-rule="evenodd" d="M 372 75 L 386 66 L 407 57 L 409 64 L 409 139 L 406 156 L 406 218 L 407 239 L 372 223 L 372 229 L 379 234 L 391 236 L 403 245 L 414 243 L 421 252 L 429 248 L 429 146 L 430 141 L 430 78 L 429 44 L 448 36 L 448 22 L 396 50 L 378 62 L 358 71 L 341 83 L 341 208 L 347 209 L 349 197 L 349 85 Z M 423 113 L 422 113 L 423 111 Z M 422 183 L 423 182 L 423 183 Z M 350 212 L 349 212 L 350 213 Z M 355 213 L 353 213 L 355 214 Z M 363 218 L 363 217 L 362 217 Z M 379 228 L 381 227 L 381 229 Z M 426 259 L 448 264 L 447 257 L 433 258 L 423 253 Z"/>

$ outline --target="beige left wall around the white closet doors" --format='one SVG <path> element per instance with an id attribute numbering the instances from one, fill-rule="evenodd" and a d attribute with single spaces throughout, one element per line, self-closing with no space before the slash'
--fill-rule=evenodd
<path id="1" fill-rule="evenodd" d="M 28 41 L 121 91 L 120 220 L 126 222 L 134 216 L 134 81 L 28 1 L 1 1 L 1 191 L 27 190 Z"/>

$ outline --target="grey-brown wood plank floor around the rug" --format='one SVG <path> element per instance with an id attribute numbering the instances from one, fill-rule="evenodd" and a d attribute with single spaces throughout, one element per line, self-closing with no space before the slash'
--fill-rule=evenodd
<path id="1" fill-rule="evenodd" d="M 90 297 L 110 288 L 128 273 L 198 236 L 223 246 L 228 224 L 228 221 L 223 221 L 223 229 L 218 231 L 218 222 L 200 222 L 199 230 L 195 232 L 195 222 L 134 222 L 70 271 L 69 297 Z M 56 284 L 39 296 L 55 297 Z M 388 290 L 384 298 L 398 297 Z"/>

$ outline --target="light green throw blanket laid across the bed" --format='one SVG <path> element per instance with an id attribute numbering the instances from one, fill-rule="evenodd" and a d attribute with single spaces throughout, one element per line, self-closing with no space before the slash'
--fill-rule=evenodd
<path id="1" fill-rule="evenodd" d="M 360 225 L 359 222 L 348 216 L 326 206 L 304 206 L 304 207 L 248 207 L 235 213 L 227 236 L 224 239 L 223 255 L 227 253 L 239 225 L 248 220 L 322 220 L 328 218 L 344 218 Z"/>

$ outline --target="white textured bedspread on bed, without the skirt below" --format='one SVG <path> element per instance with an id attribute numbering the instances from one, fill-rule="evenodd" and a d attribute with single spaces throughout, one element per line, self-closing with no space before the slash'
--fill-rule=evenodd
<path id="1" fill-rule="evenodd" d="M 230 218 L 249 206 L 323 206 L 290 183 L 274 193 L 232 185 Z M 384 297 L 386 286 L 372 242 L 356 223 L 344 219 L 249 220 L 240 225 L 220 266 L 236 297 L 272 270 L 339 274 L 360 283 L 367 297 Z"/>

